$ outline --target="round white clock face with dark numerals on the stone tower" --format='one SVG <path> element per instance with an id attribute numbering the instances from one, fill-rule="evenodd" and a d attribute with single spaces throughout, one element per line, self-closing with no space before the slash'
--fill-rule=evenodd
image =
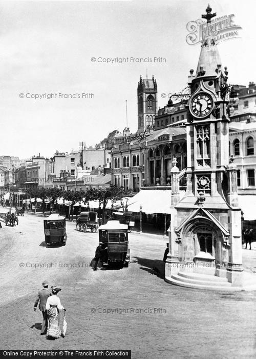
<path id="1" fill-rule="evenodd" d="M 210 95 L 198 93 L 190 103 L 190 112 L 194 117 L 204 118 L 210 114 L 214 108 L 214 101 Z"/>

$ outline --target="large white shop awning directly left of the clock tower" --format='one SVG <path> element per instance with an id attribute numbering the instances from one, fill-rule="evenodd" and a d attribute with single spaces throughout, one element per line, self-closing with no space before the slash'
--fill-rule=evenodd
<path id="1" fill-rule="evenodd" d="M 152 213 L 170 213 L 170 195 L 172 191 L 167 189 L 141 189 L 127 202 L 129 212 L 142 212 L 146 214 Z M 181 191 L 181 198 L 184 196 Z"/>

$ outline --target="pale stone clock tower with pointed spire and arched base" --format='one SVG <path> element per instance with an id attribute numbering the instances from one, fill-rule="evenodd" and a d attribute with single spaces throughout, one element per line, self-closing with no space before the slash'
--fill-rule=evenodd
<path id="1" fill-rule="evenodd" d="M 207 26 L 214 16 L 208 5 L 206 15 L 202 15 Z M 214 38 L 205 38 L 197 70 L 190 70 L 188 77 L 187 186 L 181 200 L 177 199 L 177 188 L 176 203 L 172 200 L 165 265 L 166 281 L 173 284 L 184 285 L 184 277 L 179 283 L 177 270 L 182 263 L 184 271 L 203 276 L 203 287 L 207 276 L 222 277 L 220 281 L 226 281 L 227 286 L 243 286 L 237 168 L 229 158 L 227 75 Z"/>

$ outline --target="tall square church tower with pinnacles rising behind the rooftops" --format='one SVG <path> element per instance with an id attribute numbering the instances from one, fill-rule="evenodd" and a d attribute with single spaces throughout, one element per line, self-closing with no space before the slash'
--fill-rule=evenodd
<path id="1" fill-rule="evenodd" d="M 142 79 L 138 83 L 138 130 L 144 132 L 148 126 L 153 126 L 157 112 L 157 82 L 152 79 Z"/>

